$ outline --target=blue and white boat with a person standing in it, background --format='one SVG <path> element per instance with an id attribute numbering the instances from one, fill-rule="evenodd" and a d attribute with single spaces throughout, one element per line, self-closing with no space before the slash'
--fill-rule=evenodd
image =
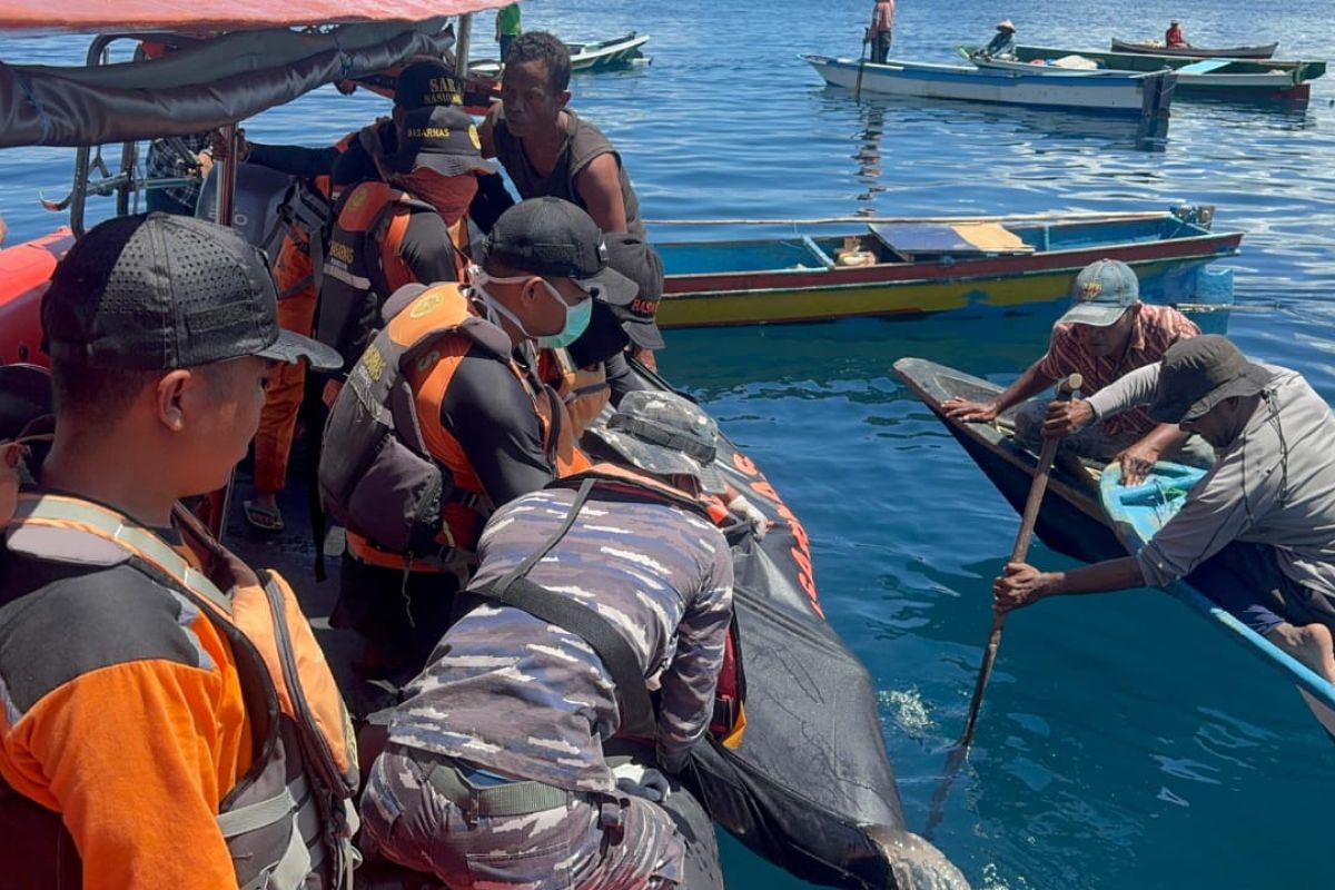
<path id="1" fill-rule="evenodd" d="M 832 87 L 921 99 L 1028 105 L 1063 111 L 1136 117 L 1167 116 L 1176 75 L 1108 72 L 1097 77 L 1045 77 L 1027 71 L 991 71 L 972 65 L 943 65 L 890 60 L 800 55 Z"/>

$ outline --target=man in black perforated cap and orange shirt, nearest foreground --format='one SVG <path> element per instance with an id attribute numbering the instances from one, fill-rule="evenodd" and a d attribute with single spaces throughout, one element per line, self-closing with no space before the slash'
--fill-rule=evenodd
<path id="1" fill-rule="evenodd" d="M 320 647 L 178 504 L 226 483 L 274 362 L 336 356 L 279 330 L 236 232 L 164 213 L 81 238 L 41 318 L 55 435 L 0 462 L 3 883 L 347 886 L 356 754 Z"/>

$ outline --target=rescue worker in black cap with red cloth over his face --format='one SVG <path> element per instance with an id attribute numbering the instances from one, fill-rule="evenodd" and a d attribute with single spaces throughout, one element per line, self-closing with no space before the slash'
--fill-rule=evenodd
<path id="1" fill-rule="evenodd" d="M 469 263 L 467 212 L 478 173 L 494 167 L 478 152 L 478 129 L 458 105 L 418 108 L 403 117 L 387 177 L 343 197 L 330 236 L 316 338 L 336 348 L 344 374 L 380 327 L 380 310 L 405 284 L 462 282 Z"/>

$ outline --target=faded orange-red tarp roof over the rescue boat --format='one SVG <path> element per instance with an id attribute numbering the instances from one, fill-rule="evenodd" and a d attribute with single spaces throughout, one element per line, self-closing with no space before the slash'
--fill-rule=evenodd
<path id="1" fill-rule="evenodd" d="M 506 0 L 0 0 L 0 29 L 43 31 L 240 31 L 347 21 L 423 21 L 497 8 Z"/>

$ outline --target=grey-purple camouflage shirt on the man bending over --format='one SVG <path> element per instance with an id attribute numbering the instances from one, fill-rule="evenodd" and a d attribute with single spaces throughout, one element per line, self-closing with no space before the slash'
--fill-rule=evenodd
<path id="1" fill-rule="evenodd" d="M 487 522 L 470 587 L 493 584 L 561 526 L 575 492 L 535 491 Z M 732 620 L 733 558 L 704 518 L 594 491 L 529 572 L 593 606 L 659 691 L 658 757 L 680 769 L 705 734 Z M 610 674 L 574 634 L 518 608 L 475 607 L 446 632 L 390 722 L 390 739 L 571 791 L 610 791 L 603 739 L 621 725 Z"/>

